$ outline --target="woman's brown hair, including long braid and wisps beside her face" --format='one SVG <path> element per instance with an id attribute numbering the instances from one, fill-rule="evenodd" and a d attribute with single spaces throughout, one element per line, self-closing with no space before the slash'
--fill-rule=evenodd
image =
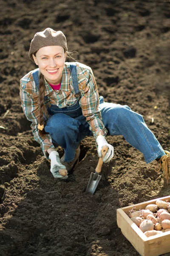
<path id="1" fill-rule="evenodd" d="M 36 53 L 38 51 L 36 51 L 34 53 L 34 56 L 36 56 Z M 74 51 L 75 52 L 75 51 Z M 74 52 L 67 52 L 66 57 L 68 58 L 72 58 L 71 56 L 73 55 Z M 65 53 L 65 50 L 64 50 Z M 76 61 L 77 59 L 72 58 L 74 61 Z M 40 102 L 40 117 L 39 117 L 39 124 L 40 125 L 46 125 L 45 120 L 43 119 L 43 114 L 45 114 L 45 116 L 49 116 L 48 111 L 45 107 L 44 104 L 44 96 L 45 96 L 45 83 L 44 83 L 44 76 L 42 75 L 42 73 L 40 73 L 40 80 L 39 80 L 39 102 Z M 43 134 L 47 134 L 44 130 L 44 128 L 41 130 L 39 130 L 39 134 L 43 135 Z"/>

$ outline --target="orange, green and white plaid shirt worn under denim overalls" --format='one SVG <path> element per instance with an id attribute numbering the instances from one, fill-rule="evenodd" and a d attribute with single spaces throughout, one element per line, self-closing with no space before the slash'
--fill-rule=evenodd
<path id="1" fill-rule="evenodd" d="M 86 117 L 89 123 L 89 129 L 92 131 L 94 138 L 99 132 L 102 135 L 107 134 L 103 122 L 101 111 L 99 110 L 99 94 L 96 86 L 94 74 L 90 67 L 76 62 L 77 65 L 77 80 L 81 99 L 79 105 L 82 108 L 82 114 Z M 48 95 L 45 105 L 54 104 L 59 108 L 74 105 L 77 98 L 74 96 L 73 81 L 69 62 L 65 62 L 65 67 L 62 73 L 61 87 L 59 90 L 53 90 L 52 87 L 45 81 L 45 96 Z M 31 121 L 31 128 L 34 134 L 34 139 L 40 143 L 45 157 L 48 159 L 46 151 L 48 148 L 54 148 L 54 145 L 49 134 L 40 136 L 38 133 L 38 120 L 40 116 L 39 106 L 39 91 L 35 85 L 32 71 L 20 80 L 20 99 L 23 112 L 26 118 Z"/>

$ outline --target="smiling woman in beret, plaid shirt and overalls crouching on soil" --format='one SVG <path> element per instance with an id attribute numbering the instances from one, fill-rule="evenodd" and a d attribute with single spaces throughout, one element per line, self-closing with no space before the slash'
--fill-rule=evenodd
<path id="1" fill-rule="evenodd" d="M 91 68 L 79 62 L 65 62 L 67 54 L 66 38 L 61 31 L 47 28 L 36 33 L 29 57 L 39 68 L 20 80 L 23 111 L 31 121 L 34 139 L 51 160 L 54 177 L 68 177 L 60 172 L 73 169 L 80 154 L 79 143 L 86 136 L 94 136 L 99 157 L 102 147 L 108 146 L 103 159 L 108 163 L 114 152 L 105 139 L 108 133 L 122 134 L 144 154 L 146 163 L 156 159 L 168 182 L 170 153 L 161 148 L 142 116 L 127 105 L 104 102 L 99 97 Z M 57 145 L 65 151 L 61 159 L 55 150 Z"/>

